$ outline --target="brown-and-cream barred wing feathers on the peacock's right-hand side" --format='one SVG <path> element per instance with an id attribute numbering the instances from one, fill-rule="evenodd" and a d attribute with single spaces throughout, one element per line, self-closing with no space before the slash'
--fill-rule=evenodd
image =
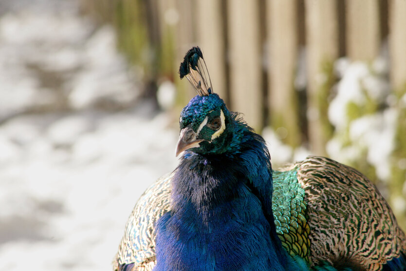
<path id="1" fill-rule="evenodd" d="M 293 165 L 305 190 L 310 261 L 381 270 L 406 252 L 405 233 L 376 187 L 355 169 L 310 156 Z"/>

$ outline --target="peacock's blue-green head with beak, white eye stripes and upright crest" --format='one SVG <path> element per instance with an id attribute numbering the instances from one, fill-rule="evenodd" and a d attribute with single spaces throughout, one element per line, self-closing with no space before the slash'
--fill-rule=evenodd
<path id="1" fill-rule="evenodd" d="M 186 53 L 179 73 L 181 79 L 186 77 L 192 83 L 199 95 L 182 110 L 176 156 L 189 149 L 203 155 L 226 152 L 233 136 L 234 118 L 224 101 L 212 91 L 199 47 L 193 47 Z"/>

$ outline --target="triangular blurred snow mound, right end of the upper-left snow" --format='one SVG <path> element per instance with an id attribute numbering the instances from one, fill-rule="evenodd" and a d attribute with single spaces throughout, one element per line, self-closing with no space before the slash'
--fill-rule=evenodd
<path id="1" fill-rule="evenodd" d="M 68 97 L 75 109 L 88 108 L 100 100 L 125 104 L 137 97 L 124 58 L 115 51 L 115 33 L 111 26 L 99 29 L 84 45 L 82 72 L 69 85 Z"/>

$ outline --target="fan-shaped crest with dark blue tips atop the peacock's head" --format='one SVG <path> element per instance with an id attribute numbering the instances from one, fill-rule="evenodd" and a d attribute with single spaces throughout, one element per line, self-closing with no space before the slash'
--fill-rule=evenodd
<path id="1" fill-rule="evenodd" d="M 193 47 L 187 51 L 179 67 L 179 75 L 181 79 L 186 77 L 200 96 L 213 93 L 209 72 L 199 47 Z"/>

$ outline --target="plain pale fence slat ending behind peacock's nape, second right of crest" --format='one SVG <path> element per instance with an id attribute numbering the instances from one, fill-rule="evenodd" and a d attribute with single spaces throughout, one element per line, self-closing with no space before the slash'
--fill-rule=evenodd
<path id="1" fill-rule="evenodd" d="M 227 1 L 231 109 L 247 123 L 263 125 L 259 5 L 256 0 Z"/>

